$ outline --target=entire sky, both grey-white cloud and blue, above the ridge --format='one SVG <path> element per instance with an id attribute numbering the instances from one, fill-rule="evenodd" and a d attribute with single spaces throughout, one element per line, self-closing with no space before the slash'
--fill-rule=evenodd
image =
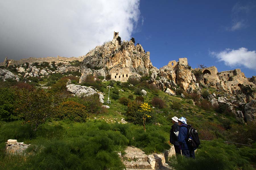
<path id="1" fill-rule="evenodd" d="M 83 56 L 117 31 L 134 37 L 157 68 L 186 57 L 192 68 L 240 68 L 251 77 L 255 18 L 255 0 L 0 0 L 0 62 Z"/>

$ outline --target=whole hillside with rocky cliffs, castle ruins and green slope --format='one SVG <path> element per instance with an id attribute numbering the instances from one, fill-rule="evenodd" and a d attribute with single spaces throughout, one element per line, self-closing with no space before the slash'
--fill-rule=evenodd
<path id="1" fill-rule="evenodd" d="M 118 152 L 125 156 L 127 146 L 148 155 L 169 150 L 171 118 L 184 116 L 202 144 L 195 160 L 170 158 L 172 168 L 255 168 L 255 76 L 192 69 L 186 58 L 157 69 L 140 44 L 118 39 L 114 32 L 112 41 L 80 60 L 2 64 L 0 167 L 123 169 Z M 146 131 L 142 103 L 151 107 Z M 6 154 L 8 139 L 31 145 L 21 155 Z"/>

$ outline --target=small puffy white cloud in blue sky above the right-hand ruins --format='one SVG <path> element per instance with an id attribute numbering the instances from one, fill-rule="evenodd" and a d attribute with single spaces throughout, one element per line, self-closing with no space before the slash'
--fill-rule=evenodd
<path id="1" fill-rule="evenodd" d="M 221 52 L 209 53 L 218 58 L 219 61 L 224 61 L 225 65 L 231 67 L 245 66 L 256 70 L 256 51 L 248 51 L 247 48 L 241 47 L 238 50 L 226 48 Z"/>

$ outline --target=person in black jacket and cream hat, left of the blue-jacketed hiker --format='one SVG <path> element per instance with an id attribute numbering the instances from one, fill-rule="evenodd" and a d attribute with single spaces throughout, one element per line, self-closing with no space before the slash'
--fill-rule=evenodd
<path id="1" fill-rule="evenodd" d="M 174 145 L 175 153 L 181 154 L 179 143 L 178 143 L 178 136 L 177 132 L 179 131 L 179 125 L 178 125 L 178 118 L 174 116 L 172 118 L 172 129 L 170 130 L 170 143 Z"/>

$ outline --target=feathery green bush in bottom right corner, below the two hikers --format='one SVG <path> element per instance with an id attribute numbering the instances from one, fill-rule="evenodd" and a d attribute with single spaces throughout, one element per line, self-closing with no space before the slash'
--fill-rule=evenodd
<path id="1" fill-rule="evenodd" d="M 234 145 L 226 145 L 223 141 L 207 141 L 203 142 L 202 147 L 197 150 L 195 159 L 184 159 L 181 156 L 177 156 L 176 159 L 173 156 L 169 161 L 170 165 L 177 170 L 253 169 L 247 159 L 248 157 L 240 155 Z"/>

